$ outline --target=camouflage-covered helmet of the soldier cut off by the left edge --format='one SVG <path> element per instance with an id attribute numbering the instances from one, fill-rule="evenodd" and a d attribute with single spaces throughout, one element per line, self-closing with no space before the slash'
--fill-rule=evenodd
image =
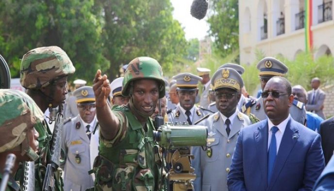
<path id="1" fill-rule="evenodd" d="M 17 150 L 31 159 L 38 159 L 29 146 L 29 127 L 42 125 L 44 113 L 33 99 L 24 92 L 0 89 L 0 152 Z M 21 146 L 19 146 L 21 145 Z"/>

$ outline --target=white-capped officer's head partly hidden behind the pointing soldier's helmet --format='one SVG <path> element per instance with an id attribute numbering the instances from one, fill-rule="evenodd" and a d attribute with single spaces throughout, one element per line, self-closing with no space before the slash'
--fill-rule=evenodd
<path id="1" fill-rule="evenodd" d="M 124 77 L 120 77 L 115 79 L 110 83 L 110 103 L 112 106 L 114 105 L 124 105 L 129 102 L 129 96 L 122 96 L 123 89 L 123 79 Z"/>

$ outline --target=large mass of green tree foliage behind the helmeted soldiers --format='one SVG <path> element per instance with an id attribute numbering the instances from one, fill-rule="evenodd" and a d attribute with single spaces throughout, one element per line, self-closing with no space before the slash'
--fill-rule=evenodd
<path id="1" fill-rule="evenodd" d="M 169 0 L 1 0 L 0 53 L 19 77 L 28 50 L 63 48 L 77 71 L 92 81 L 99 68 L 116 77 L 119 65 L 150 56 L 170 70 L 187 42 Z"/>

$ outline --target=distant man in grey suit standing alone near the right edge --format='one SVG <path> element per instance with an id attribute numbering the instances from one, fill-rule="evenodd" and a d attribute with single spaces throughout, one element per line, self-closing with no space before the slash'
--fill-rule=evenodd
<path id="1" fill-rule="evenodd" d="M 320 79 L 314 78 L 311 81 L 311 87 L 313 90 L 307 92 L 308 101 L 306 104 L 306 110 L 311 111 L 319 115 L 322 119 L 326 119 L 322 109 L 324 107 L 324 101 L 326 93 L 320 88 Z"/>

